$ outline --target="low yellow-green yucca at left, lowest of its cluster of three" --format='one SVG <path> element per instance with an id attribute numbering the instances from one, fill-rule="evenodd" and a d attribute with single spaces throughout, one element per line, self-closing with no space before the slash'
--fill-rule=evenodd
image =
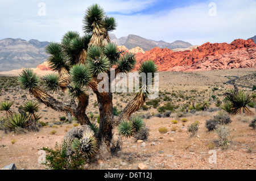
<path id="1" fill-rule="evenodd" d="M 5 123 L 5 127 L 9 131 L 22 130 L 26 132 L 28 129 L 28 121 L 27 116 L 22 113 L 14 113 Z"/>

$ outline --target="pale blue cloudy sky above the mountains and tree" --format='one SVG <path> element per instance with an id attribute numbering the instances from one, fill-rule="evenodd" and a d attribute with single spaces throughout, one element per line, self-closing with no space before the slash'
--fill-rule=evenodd
<path id="1" fill-rule="evenodd" d="M 60 41 L 69 30 L 82 35 L 82 18 L 93 3 L 117 20 L 118 38 L 133 34 L 201 45 L 256 35 L 255 0 L 0 0 L 0 39 Z"/>

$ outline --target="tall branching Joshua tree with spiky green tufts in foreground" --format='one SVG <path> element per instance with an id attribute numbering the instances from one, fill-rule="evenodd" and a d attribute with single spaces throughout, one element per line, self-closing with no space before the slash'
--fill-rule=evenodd
<path id="1" fill-rule="evenodd" d="M 110 43 L 108 33 L 115 30 L 113 17 L 105 15 L 104 10 L 97 4 L 88 7 L 83 19 L 84 36 L 78 32 L 69 31 L 63 36 L 61 43 L 50 43 L 46 52 L 52 70 L 56 73 L 42 77 L 47 90 L 39 86 L 40 78 L 30 69 L 24 69 L 19 77 L 22 87 L 34 95 L 40 102 L 53 110 L 71 113 L 81 125 L 94 127 L 86 115 L 89 94 L 85 87 L 92 89 L 97 96 L 100 112 L 100 127 L 96 134 L 98 145 L 105 143 L 110 150 L 113 138 L 113 128 L 122 121 L 127 121 L 133 112 L 137 111 L 148 98 L 149 88 L 140 84 L 135 98 L 124 108 L 117 120 L 113 116 L 113 94 L 111 90 L 110 71 L 114 68 L 114 75 L 129 73 L 135 68 L 135 54 L 118 51 L 117 45 Z M 113 70 L 113 69 L 112 69 Z M 157 68 L 153 61 L 145 61 L 140 65 L 139 73 L 154 73 Z M 105 73 L 110 78 L 100 78 Z M 104 90 L 99 91 L 99 83 L 104 84 Z M 106 86 L 109 85 L 109 86 Z M 48 93 L 63 91 L 65 100 L 60 102 Z M 134 129 L 135 130 L 135 129 Z M 90 134 L 92 137 L 92 134 Z M 83 138 L 83 140 L 86 140 Z"/>

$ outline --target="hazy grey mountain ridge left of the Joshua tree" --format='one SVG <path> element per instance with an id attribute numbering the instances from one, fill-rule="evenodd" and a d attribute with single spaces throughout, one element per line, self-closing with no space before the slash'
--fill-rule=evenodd
<path id="1" fill-rule="evenodd" d="M 46 61 L 48 41 L 22 39 L 0 40 L 0 71 L 20 68 L 35 68 Z"/>

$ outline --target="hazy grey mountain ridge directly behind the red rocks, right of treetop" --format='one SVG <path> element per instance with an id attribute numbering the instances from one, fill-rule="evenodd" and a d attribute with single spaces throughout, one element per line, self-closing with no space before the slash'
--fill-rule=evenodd
<path id="1" fill-rule="evenodd" d="M 173 43 L 167 43 L 165 41 L 155 41 L 150 39 L 144 39 L 143 37 L 137 36 L 137 35 L 128 35 L 128 36 L 117 39 L 117 37 L 114 34 L 110 34 L 110 41 L 116 43 L 118 46 L 125 46 L 127 49 L 140 47 L 144 51 L 151 50 L 155 47 L 176 49 L 176 48 L 188 48 L 193 46 L 191 43 L 181 41 L 181 40 L 174 41 Z"/>

